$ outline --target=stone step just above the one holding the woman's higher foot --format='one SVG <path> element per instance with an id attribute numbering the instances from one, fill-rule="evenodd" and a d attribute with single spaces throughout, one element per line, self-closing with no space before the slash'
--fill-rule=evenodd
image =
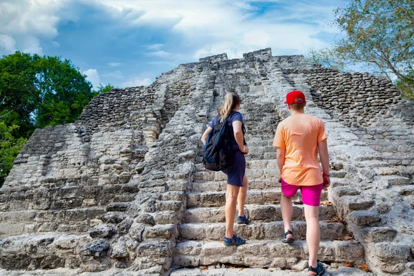
<path id="1" fill-rule="evenodd" d="M 250 221 L 254 222 L 270 222 L 281 221 L 282 211 L 279 205 L 255 205 L 247 204 L 244 208 L 246 216 Z M 237 214 L 236 214 L 237 216 Z M 335 210 L 333 206 L 319 206 L 319 220 L 324 221 L 331 219 L 335 216 Z M 293 206 L 292 220 L 305 220 L 304 206 Z M 183 222 L 194 223 L 215 223 L 225 222 L 226 215 L 224 213 L 224 206 L 215 208 L 190 208 L 184 211 Z"/>

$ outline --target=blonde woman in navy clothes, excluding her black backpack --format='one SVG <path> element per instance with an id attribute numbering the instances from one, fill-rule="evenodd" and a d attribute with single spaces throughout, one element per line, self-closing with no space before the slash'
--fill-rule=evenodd
<path id="1" fill-rule="evenodd" d="M 250 221 L 244 214 L 244 204 L 246 204 L 247 195 L 247 177 L 246 159 L 244 155 L 248 154 L 248 147 L 244 141 L 243 116 L 238 110 L 240 109 L 240 97 L 236 93 L 227 93 L 224 97 L 224 103 L 218 108 L 218 115 L 213 119 L 210 126 L 206 129 L 201 141 L 206 144 L 208 134 L 213 127 L 227 119 L 228 139 L 230 141 L 231 150 L 234 155 L 233 164 L 222 170 L 227 175 L 227 191 L 226 191 L 226 237 L 224 237 L 225 246 L 239 246 L 245 244 L 246 240 L 237 237 L 233 233 L 233 224 L 236 214 L 236 204 L 238 206 L 239 215 L 237 224 L 249 224 Z"/>

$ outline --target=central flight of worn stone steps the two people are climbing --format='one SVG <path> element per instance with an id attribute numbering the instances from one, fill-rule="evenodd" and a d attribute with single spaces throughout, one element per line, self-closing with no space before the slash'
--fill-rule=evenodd
<path id="1" fill-rule="evenodd" d="M 242 98 L 240 112 L 244 115 L 247 128 L 246 141 L 250 153 L 246 156 L 246 177 L 248 193 L 245 212 L 251 223 L 235 224 L 235 233 L 247 242 L 243 246 L 226 247 L 222 244 L 225 234 L 224 205 L 226 201 L 226 175 L 212 172 L 201 164 L 199 152 L 187 193 L 187 206 L 182 223 L 178 226 L 178 239 L 172 267 L 199 266 L 242 266 L 250 268 L 273 268 L 303 270 L 307 267 L 306 221 L 300 200 L 300 191 L 294 197 L 293 232 L 297 242 L 283 244 L 284 224 L 280 210 L 282 195 L 277 168 L 276 150 L 272 146 L 275 126 L 280 121 L 272 108 L 273 104 L 263 88 L 239 91 Z M 261 101 L 257 103 L 257 101 Z M 266 106 L 269 106 L 266 108 Z M 211 121 L 216 112 L 210 112 Z M 337 170 L 332 172 L 333 181 L 346 175 Z M 328 201 L 328 190 L 322 192 L 322 201 Z M 334 241 L 347 233 L 341 222 L 326 222 L 335 217 L 331 204 L 321 206 L 319 219 L 321 226 L 321 250 L 319 259 L 332 267 L 345 263 L 359 264 L 364 258 L 364 247 L 357 242 Z M 197 268 L 198 269 L 198 268 Z M 184 270 L 183 270 L 184 271 Z M 185 270 L 195 273 L 197 270 Z M 266 270 L 257 270 L 264 273 Z M 183 272 L 184 273 L 184 272 Z M 259 273 L 259 272 L 257 272 Z M 358 273 L 358 272 L 357 272 Z M 361 272 L 362 274 L 362 272 Z M 172 273 L 172 275 L 191 275 Z M 195 274 L 198 275 L 198 274 Z M 207 274 L 206 274 L 207 275 Z"/>

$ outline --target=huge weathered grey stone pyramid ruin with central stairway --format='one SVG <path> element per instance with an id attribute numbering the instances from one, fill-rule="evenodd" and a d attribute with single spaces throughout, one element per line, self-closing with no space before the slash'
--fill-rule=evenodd
<path id="1" fill-rule="evenodd" d="M 413 103 L 381 77 L 273 57 L 270 48 L 182 64 L 150 86 L 99 95 L 74 124 L 36 130 L 0 189 L 0 275 L 302 271 L 304 209 L 295 197 L 298 241 L 282 244 L 271 146 L 293 89 L 324 120 L 331 153 L 320 261 L 335 275 L 414 275 Z M 253 224 L 235 226 L 248 239 L 237 248 L 221 244 L 226 178 L 204 170 L 199 141 L 230 91 L 242 98 L 250 147 Z"/>

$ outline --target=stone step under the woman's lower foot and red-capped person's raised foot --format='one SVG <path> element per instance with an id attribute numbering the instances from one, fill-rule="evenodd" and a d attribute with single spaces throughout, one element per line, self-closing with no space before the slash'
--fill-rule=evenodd
<path id="1" fill-rule="evenodd" d="M 324 242 L 320 244 L 320 262 L 355 263 L 364 259 L 364 246 L 357 242 Z M 284 244 L 274 241 L 248 241 L 242 246 L 224 246 L 221 242 L 186 241 L 175 246 L 172 265 L 181 267 L 230 264 L 252 268 L 294 268 L 308 261 L 306 242 Z"/>

